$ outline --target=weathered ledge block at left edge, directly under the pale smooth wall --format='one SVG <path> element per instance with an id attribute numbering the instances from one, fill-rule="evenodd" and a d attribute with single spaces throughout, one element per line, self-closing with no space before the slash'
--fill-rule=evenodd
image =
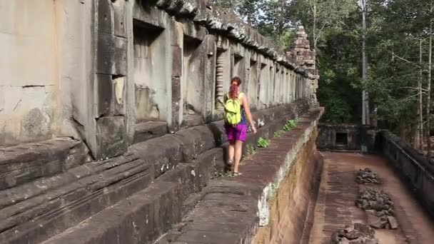
<path id="1" fill-rule="evenodd" d="M 54 176 L 90 160 L 86 145 L 71 138 L 0 148 L 0 190 Z"/>

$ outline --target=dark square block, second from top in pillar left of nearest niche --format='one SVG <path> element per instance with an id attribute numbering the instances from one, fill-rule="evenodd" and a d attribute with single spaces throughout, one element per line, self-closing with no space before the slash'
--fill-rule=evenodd
<path id="1" fill-rule="evenodd" d="M 126 76 L 126 39 L 98 34 L 96 73 Z"/>

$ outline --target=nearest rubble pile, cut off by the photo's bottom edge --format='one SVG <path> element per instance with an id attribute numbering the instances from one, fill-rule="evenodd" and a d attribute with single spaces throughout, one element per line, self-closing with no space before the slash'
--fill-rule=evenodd
<path id="1" fill-rule="evenodd" d="M 331 235 L 331 244 L 377 244 L 375 230 L 368 225 L 355 223 L 343 230 L 336 230 Z"/>

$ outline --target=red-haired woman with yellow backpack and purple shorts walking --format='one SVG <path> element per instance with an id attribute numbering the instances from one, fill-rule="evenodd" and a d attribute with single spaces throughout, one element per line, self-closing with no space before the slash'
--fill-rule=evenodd
<path id="1" fill-rule="evenodd" d="M 238 165 L 241 161 L 243 142 L 247 138 L 248 124 L 250 124 L 253 133 L 256 133 L 247 96 L 239 91 L 240 85 L 241 79 L 233 77 L 231 88 L 224 96 L 225 130 L 230 143 L 228 148 L 228 164 L 232 165 L 233 163 L 234 176 L 241 175 L 238 172 Z"/>

